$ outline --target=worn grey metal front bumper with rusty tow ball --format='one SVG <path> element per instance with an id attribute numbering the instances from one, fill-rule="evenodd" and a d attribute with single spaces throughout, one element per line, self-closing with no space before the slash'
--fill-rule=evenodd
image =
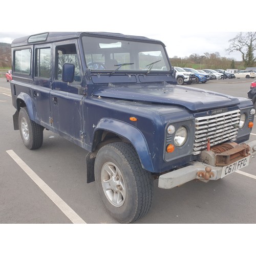
<path id="1" fill-rule="evenodd" d="M 248 159 L 250 162 L 251 159 L 256 155 L 256 140 L 246 144 L 250 146 L 250 156 L 244 159 Z M 243 167 L 244 161 L 238 162 L 240 163 L 239 167 Z M 212 166 L 203 162 L 194 161 L 189 166 L 159 176 L 158 187 L 170 189 L 195 179 L 199 179 L 204 182 L 208 182 L 209 180 L 218 180 L 222 178 L 223 169 L 227 167 L 228 166 Z M 205 178 L 204 175 L 206 175 L 207 178 Z"/>

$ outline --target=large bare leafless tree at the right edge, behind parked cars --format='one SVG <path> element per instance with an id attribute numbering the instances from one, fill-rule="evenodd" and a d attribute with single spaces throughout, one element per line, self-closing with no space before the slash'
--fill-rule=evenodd
<path id="1" fill-rule="evenodd" d="M 240 52 L 245 67 L 253 67 L 256 58 L 253 51 L 256 50 L 256 32 L 240 32 L 236 37 L 229 40 L 228 53 Z"/>

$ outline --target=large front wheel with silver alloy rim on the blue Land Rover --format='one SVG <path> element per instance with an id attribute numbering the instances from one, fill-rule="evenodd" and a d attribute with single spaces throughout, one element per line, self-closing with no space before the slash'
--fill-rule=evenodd
<path id="1" fill-rule="evenodd" d="M 118 222 L 135 222 L 150 210 L 153 179 L 141 167 L 131 144 L 115 142 L 101 147 L 96 155 L 94 174 L 101 200 Z"/>

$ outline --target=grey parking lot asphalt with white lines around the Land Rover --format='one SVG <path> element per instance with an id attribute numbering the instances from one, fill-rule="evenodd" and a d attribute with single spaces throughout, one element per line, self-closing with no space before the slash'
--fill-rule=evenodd
<path id="1" fill-rule="evenodd" d="M 191 87 L 247 97 L 254 79 L 214 80 Z M 10 83 L 0 79 L 0 224 L 117 223 L 104 210 L 94 183 L 86 183 L 86 151 L 44 131 L 41 148 L 29 151 L 13 130 Z M 256 127 L 250 140 L 256 140 Z M 255 161 L 253 159 L 252 161 Z M 136 224 L 255 224 L 255 163 L 218 181 L 191 181 L 160 189 L 150 212 Z"/>

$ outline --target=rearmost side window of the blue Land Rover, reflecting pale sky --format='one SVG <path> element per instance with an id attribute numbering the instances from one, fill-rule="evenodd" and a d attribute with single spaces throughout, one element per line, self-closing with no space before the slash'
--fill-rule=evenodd
<path id="1" fill-rule="evenodd" d="M 31 73 L 31 49 L 14 51 L 14 72 L 30 75 Z"/>

